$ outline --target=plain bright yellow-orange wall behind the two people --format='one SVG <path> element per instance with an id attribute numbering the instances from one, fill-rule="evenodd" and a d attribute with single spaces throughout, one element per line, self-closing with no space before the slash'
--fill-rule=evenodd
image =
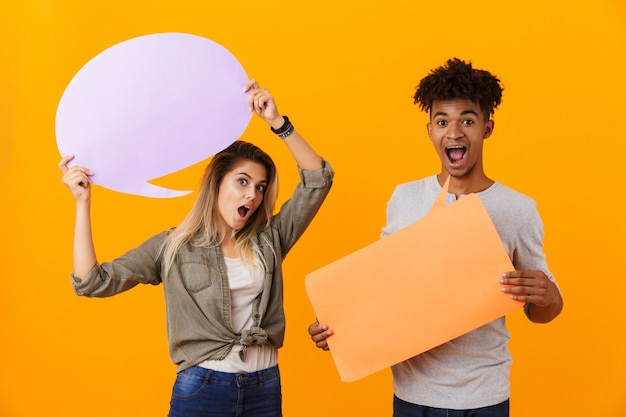
<path id="1" fill-rule="evenodd" d="M 394 185 L 437 170 L 426 115 L 411 97 L 429 69 L 453 56 L 504 82 L 487 173 L 537 200 L 565 297 L 549 325 L 509 317 L 512 415 L 626 415 L 622 0 L 3 0 L 0 16 L 0 416 L 167 412 L 174 366 L 161 289 L 101 300 L 72 292 L 73 199 L 60 182 L 54 133 L 60 96 L 89 59 L 166 31 L 230 50 L 337 171 L 285 264 L 286 416 L 391 413 L 388 371 L 342 383 L 331 356 L 309 341 L 314 314 L 303 278 L 376 240 Z M 296 180 L 286 150 L 256 119 L 243 138 L 274 155 L 286 198 Z M 162 184 L 195 187 L 202 167 Z M 105 260 L 175 225 L 193 196 L 96 187 L 93 199 Z M 369 337 L 376 329 L 363 343 Z"/>

